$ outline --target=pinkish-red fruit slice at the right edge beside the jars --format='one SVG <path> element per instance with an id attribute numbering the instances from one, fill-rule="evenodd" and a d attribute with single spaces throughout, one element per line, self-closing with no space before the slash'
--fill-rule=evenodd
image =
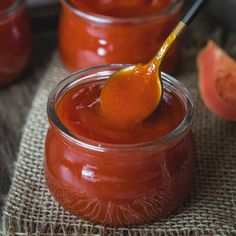
<path id="1" fill-rule="evenodd" d="M 236 120 L 236 62 L 210 41 L 199 53 L 197 67 L 205 105 L 216 115 Z"/>

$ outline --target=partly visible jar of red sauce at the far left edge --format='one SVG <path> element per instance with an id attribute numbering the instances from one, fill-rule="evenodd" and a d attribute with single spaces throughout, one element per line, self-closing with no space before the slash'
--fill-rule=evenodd
<path id="1" fill-rule="evenodd" d="M 24 0 L 0 1 L 0 85 L 19 77 L 31 54 L 31 31 Z"/>

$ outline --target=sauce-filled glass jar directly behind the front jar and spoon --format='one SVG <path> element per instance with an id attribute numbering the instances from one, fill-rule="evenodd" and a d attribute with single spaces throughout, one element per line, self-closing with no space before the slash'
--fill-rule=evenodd
<path id="1" fill-rule="evenodd" d="M 59 48 L 70 71 L 149 61 L 179 21 L 182 0 L 61 0 Z M 172 72 L 180 42 L 166 57 Z"/>

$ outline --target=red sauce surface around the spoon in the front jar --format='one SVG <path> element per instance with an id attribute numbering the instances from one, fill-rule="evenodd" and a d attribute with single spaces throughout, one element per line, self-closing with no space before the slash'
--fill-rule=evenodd
<path id="1" fill-rule="evenodd" d="M 144 122 L 121 128 L 100 114 L 100 93 L 104 81 L 87 82 L 67 91 L 56 112 L 64 126 L 76 135 L 113 144 L 134 144 L 155 140 L 182 122 L 185 108 L 173 93 L 164 91 L 158 109 Z"/>

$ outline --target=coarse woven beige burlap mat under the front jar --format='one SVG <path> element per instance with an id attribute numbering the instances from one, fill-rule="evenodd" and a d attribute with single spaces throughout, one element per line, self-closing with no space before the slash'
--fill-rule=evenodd
<path id="1" fill-rule="evenodd" d="M 199 42 L 199 41 L 196 41 Z M 196 45 L 195 45 L 196 46 Z M 46 101 L 67 73 L 53 56 L 35 96 L 22 137 L 13 183 L 2 219 L 4 235 L 236 235 L 236 123 L 210 114 L 202 104 L 195 71 L 196 49 L 185 49 L 178 78 L 192 92 L 198 162 L 189 200 L 154 224 L 106 228 L 63 210 L 45 185 Z"/>

